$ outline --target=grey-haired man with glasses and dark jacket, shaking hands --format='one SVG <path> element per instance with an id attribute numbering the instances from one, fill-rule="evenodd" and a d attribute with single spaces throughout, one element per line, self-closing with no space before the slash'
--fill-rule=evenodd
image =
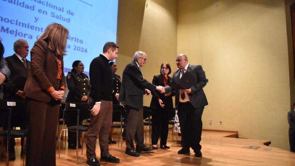
<path id="1" fill-rule="evenodd" d="M 151 91 L 164 91 L 163 87 L 149 83 L 141 73 L 141 68 L 147 63 L 147 55 L 136 51 L 133 61 L 128 63 L 123 71 L 119 101 L 128 111 L 126 124 L 126 151 L 130 156 L 140 156 L 142 151 L 153 150 L 144 145 L 143 95 L 151 95 Z M 135 139 L 136 148 L 133 145 Z"/>

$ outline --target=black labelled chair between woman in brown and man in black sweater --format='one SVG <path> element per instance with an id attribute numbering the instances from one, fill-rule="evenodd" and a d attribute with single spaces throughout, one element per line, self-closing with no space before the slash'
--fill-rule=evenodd
<path id="1" fill-rule="evenodd" d="M 83 155 L 83 140 L 84 140 L 84 132 L 88 130 L 88 126 L 79 125 L 80 122 L 84 121 L 85 119 L 88 119 L 90 116 L 89 106 L 85 105 L 84 103 L 74 103 L 74 102 L 67 102 L 65 104 L 65 110 L 63 114 L 63 125 L 61 127 L 61 132 L 59 135 L 59 141 L 58 141 L 58 158 L 60 158 L 60 144 L 61 144 L 61 133 L 62 131 L 71 131 L 71 132 L 77 132 L 77 138 L 76 138 L 76 164 L 78 164 L 78 137 L 79 132 L 82 133 L 82 152 Z M 69 126 L 65 129 L 65 124 L 75 124 L 76 126 Z"/>

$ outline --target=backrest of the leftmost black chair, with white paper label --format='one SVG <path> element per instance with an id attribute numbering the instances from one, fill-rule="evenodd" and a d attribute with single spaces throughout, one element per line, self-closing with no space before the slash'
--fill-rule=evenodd
<path id="1" fill-rule="evenodd" d="M 26 102 L 25 101 L 17 101 L 17 100 L 0 100 L 0 126 L 7 127 L 8 125 L 8 116 L 10 114 L 11 121 L 13 121 L 13 117 L 16 116 L 26 116 Z M 7 112 L 10 110 L 11 112 Z M 11 124 L 11 123 L 10 123 Z M 15 124 L 15 123 L 14 123 Z M 18 125 L 17 125 L 18 126 Z"/>

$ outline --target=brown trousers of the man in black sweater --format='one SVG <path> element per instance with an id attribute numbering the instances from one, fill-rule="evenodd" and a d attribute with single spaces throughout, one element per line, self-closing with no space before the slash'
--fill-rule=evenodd
<path id="1" fill-rule="evenodd" d="M 101 101 L 100 111 L 96 116 L 91 116 L 91 121 L 88 126 L 86 156 L 87 159 L 95 158 L 96 140 L 99 135 L 100 157 L 108 156 L 108 133 L 111 129 L 113 114 L 112 101 Z"/>

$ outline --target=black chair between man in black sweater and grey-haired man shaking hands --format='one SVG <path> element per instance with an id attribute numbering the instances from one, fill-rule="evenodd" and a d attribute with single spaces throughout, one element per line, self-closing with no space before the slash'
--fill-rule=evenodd
<path id="1" fill-rule="evenodd" d="M 118 133 L 118 148 L 119 144 L 121 142 L 121 154 L 123 153 L 123 136 L 122 136 L 122 130 L 123 128 L 126 128 L 126 124 L 123 124 L 123 114 L 125 113 L 124 107 L 122 105 L 113 105 L 113 114 L 112 114 L 112 121 L 117 122 L 119 121 L 120 124 L 112 124 L 112 128 L 119 128 L 120 129 L 120 136 Z"/>

